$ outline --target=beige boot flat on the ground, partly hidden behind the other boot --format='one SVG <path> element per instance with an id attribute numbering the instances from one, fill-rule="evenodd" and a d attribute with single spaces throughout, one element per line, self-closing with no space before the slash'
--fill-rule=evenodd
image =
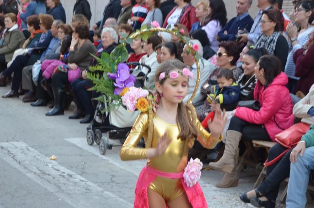
<path id="1" fill-rule="evenodd" d="M 237 164 L 238 164 L 238 157 L 239 157 L 239 148 L 236 150 L 236 157 L 235 157 L 235 166 L 232 169 L 231 173 L 225 173 L 222 180 L 216 184 L 218 188 L 229 188 L 238 186 L 239 182 L 239 172 L 237 171 Z"/>

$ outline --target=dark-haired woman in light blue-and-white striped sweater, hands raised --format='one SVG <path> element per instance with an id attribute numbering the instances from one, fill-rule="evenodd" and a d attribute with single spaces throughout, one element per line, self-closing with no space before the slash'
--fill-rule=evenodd
<path id="1" fill-rule="evenodd" d="M 293 54 L 311 38 L 311 34 L 314 31 L 313 25 L 311 25 L 314 20 L 312 10 L 314 8 L 314 2 L 302 2 L 298 8 L 300 12 L 296 15 L 295 23 L 300 24 L 297 28 L 294 24 L 289 24 L 287 27 L 287 33 L 289 36 L 289 46 L 290 52 L 287 58 L 287 63 L 284 68 L 284 73 L 287 74 L 289 82 L 288 89 L 290 93 L 295 93 L 295 86 L 299 80 L 299 77 L 295 76 L 295 63 L 293 62 Z M 298 32 L 298 30 L 300 30 Z"/>

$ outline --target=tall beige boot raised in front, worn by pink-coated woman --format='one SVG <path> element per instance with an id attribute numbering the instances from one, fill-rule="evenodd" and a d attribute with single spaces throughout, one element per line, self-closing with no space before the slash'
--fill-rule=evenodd
<path id="1" fill-rule="evenodd" d="M 224 155 L 217 162 L 210 162 L 209 167 L 215 170 L 231 173 L 235 167 L 236 150 L 238 149 L 239 142 L 242 134 L 238 131 L 227 131 L 226 144 Z"/>

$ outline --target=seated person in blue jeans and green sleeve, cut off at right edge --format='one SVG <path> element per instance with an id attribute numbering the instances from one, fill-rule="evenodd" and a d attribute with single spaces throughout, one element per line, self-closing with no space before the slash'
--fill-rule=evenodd
<path id="1" fill-rule="evenodd" d="M 305 207 L 306 190 L 309 184 L 311 170 L 314 170 L 314 126 L 302 136 L 301 141 L 296 145 L 290 154 L 290 176 L 286 207 Z M 300 155 L 299 155 L 300 153 Z M 313 179 L 313 178 L 312 178 Z"/>

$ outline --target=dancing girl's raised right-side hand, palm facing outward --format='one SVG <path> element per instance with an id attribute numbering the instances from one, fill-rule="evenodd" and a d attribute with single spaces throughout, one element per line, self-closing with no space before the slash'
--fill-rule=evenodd
<path id="1" fill-rule="evenodd" d="M 211 135 L 215 138 L 219 138 L 219 135 L 224 130 L 227 121 L 228 118 L 226 117 L 226 110 L 224 109 L 223 113 L 221 113 L 220 108 L 216 109 L 214 120 L 211 121 L 211 119 L 209 119 L 207 123 Z"/>

